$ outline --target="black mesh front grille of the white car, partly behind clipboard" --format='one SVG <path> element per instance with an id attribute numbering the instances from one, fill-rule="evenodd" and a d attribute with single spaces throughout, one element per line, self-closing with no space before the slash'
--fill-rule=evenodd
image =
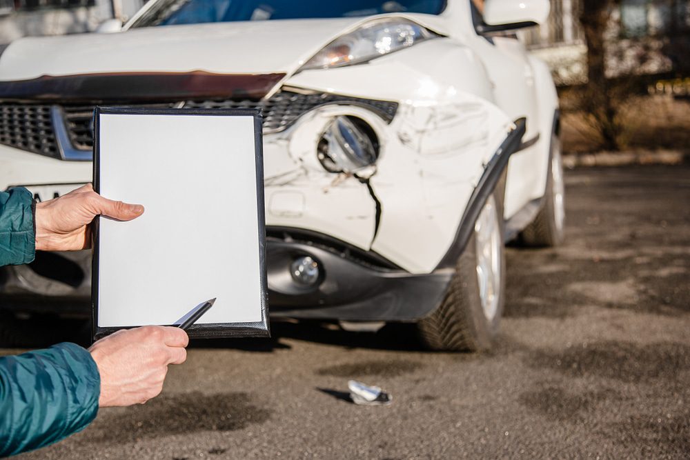
<path id="1" fill-rule="evenodd" d="M 375 101 L 336 94 L 300 94 L 279 92 L 263 101 L 217 99 L 204 101 L 175 101 L 170 103 L 150 103 L 127 105 L 137 108 L 260 108 L 264 115 L 264 134 L 280 132 L 295 123 L 306 112 L 328 104 L 349 104 L 373 110 L 386 122 L 395 117 L 397 103 Z M 122 106 L 104 103 L 107 106 Z M 55 130 L 51 120 L 53 106 L 37 104 L 0 103 L 0 143 L 8 146 L 59 157 Z M 63 123 L 77 150 L 91 150 L 93 147 L 92 117 L 95 106 L 70 105 L 57 106 L 61 110 Z"/>

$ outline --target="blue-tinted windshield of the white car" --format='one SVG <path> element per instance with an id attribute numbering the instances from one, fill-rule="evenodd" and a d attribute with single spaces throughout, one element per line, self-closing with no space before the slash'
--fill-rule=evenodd
<path id="1" fill-rule="evenodd" d="M 391 12 L 440 14 L 445 5 L 446 0 L 159 0 L 132 27 L 361 17 Z"/>

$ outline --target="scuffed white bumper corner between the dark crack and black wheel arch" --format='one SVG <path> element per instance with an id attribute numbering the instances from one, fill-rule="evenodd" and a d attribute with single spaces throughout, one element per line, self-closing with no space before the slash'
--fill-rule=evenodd
<path id="1" fill-rule="evenodd" d="M 404 104 L 371 179 L 382 203 L 371 249 L 412 273 L 434 270 L 508 127 L 497 108 L 470 94 Z"/>

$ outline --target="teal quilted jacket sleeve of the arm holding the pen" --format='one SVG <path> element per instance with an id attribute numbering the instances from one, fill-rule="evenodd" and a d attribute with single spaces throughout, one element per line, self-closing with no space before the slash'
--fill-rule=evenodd
<path id="1" fill-rule="evenodd" d="M 0 358 L 0 457 L 48 446 L 98 413 L 101 378 L 91 354 L 60 343 Z"/>

